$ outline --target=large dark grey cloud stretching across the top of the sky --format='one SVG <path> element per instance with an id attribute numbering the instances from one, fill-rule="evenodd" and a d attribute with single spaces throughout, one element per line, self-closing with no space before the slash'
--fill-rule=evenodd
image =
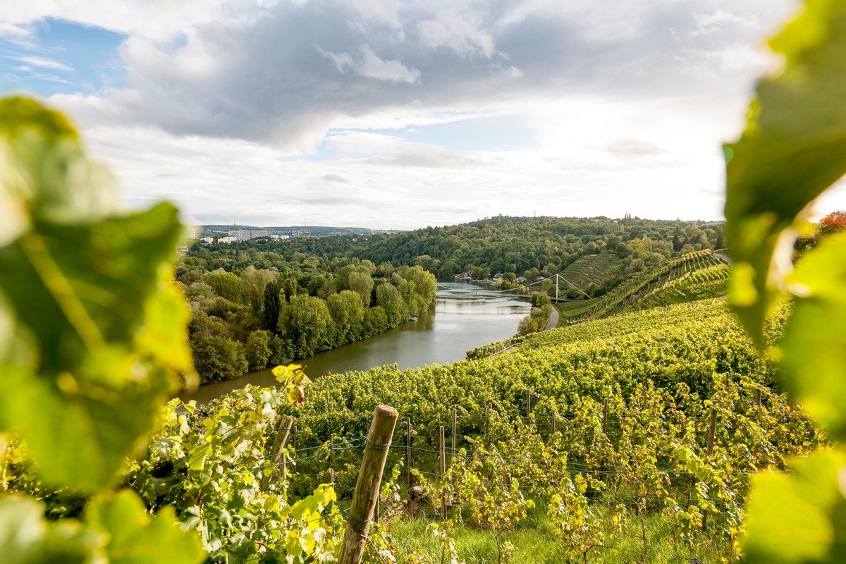
<path id="1" fill-rule="evenodd" d="M 69 92 L 63 101 L 90 123 L 310 151 L 329 129 L 384 115 L 401 128 L 405 118 L 445 109 L 486 112 L 562 96 L 710 94 L 760 69 L 748 38 L 764 25 L 714 10 L 711 0 L 236 0 L 228 9 L 198 1 L 146 24 L 129 21 L 151 13 L 140 3 L 124 19 L 89 15 L 86 25 L 129 34 L 120 50 L 125 87 Z M 736 13 L 749 5 L 739 0 Z M 707 35 L 671 32 L 700 25 Z"/>

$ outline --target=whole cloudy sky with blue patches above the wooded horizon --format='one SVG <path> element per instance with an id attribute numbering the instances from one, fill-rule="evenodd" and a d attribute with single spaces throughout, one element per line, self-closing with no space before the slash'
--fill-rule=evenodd
<path id="1" fill-rule="evenodd" d="M 794 0 L 28 0 L 0 94 L 67 112 L 194 224 L 722 219 Z M 846 209 L 846 190 L 818 205 Z"/>

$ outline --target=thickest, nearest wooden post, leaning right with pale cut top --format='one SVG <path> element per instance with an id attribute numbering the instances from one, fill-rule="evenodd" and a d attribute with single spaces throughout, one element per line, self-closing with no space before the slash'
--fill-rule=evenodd
<path id="1" fill-rule="evenodd" d="M 370 434 L 365 439 L 359 478 L 355 482 L 353 504 L 349 507 L 347 528 L 343 532 L 339 564 L 360 564 L 361 556 L 364 555 L 367 531 L 370 530 L 376 509 L 387 449 L 391 446 L 397 416 L 397 410 L 387 405 L 377 405 L 373 413 Z"/>

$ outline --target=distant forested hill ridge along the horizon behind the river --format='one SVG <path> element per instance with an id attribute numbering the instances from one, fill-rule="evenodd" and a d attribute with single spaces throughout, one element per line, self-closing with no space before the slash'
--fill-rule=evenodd
<path id="1" fill-rule="evenodd" d="M 722 225 L 680 220 L 607 217 L 493 217 L 449 227 L 425 227 L 394 234 L 304 237 L 284 241 L 257 239 L 195 249 L 213 255 L 226 270 L 253 264 L 270 268 L 278 260 L 319 265 L 369 260 L 378 268 L 420 266 L 439 280 L 470 271 L 475 278 L 514 277 L 563 271 L 580 256 L 612 250 L 624 257 L 625 276 L 666 258 L 723 246 Z M 208 258 L 208 257 L 207 257 Z M 262 266 L 263 265 L 263 266 Z"/>

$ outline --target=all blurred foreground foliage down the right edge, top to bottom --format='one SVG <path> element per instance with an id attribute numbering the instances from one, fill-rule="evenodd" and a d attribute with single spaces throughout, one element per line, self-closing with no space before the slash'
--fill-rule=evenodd
<path id="1" fill-rule="evenodd" d="M 729 298 L 764 347 L 766 312 L 783 289 L 794 294 L 774 356 L 788 390 L 838 450 L 794 460 L 792 476 L 755 480 L 744 547 L 755 562 L 838 562 L 846 554 L 846 238 L 827 238 L 789 271 L 801 212 L 846 172 L 846 2 L 809 0 L 770 45 L 785 66 L 761 80 L 743 136 L 726 147 L 728 245 L 736 260 Z"/>

